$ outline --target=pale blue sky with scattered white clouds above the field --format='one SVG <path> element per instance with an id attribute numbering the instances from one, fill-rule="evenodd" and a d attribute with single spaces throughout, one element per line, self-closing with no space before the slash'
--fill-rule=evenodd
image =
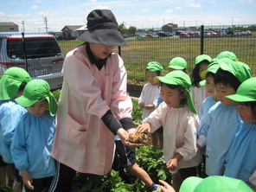
<path id="1" fill-rule="evenodd" d="M 85 25 L 95 9 L 112 10 L 127 29 L 256 24 L 256 0 L 0 0 L 0 22 L 15 22 L 20 32 L 58 32 Z"/>

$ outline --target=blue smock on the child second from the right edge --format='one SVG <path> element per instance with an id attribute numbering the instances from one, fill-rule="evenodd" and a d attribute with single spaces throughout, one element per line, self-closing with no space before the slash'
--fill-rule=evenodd
<path id="1" fill-rule="evenodd" d="M 210 108 L 205 123 L 202 125 L 202 135 L 207 137 L 206 174 L 222 176 L 227 150 L 238 131 L 240 115 L 238 106 L 223 106 L 221 101 Z"/>

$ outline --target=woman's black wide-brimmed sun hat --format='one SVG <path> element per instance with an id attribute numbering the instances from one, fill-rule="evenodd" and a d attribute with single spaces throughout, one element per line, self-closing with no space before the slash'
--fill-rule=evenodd
<path id="1" fill-rule="evenodd" d="M 87 30 L 78 39 L 111 46 L 128 45 L 124 36 L 118 31 L 118 22 L 111 10 L 90 12 L 87 16 Z"/>

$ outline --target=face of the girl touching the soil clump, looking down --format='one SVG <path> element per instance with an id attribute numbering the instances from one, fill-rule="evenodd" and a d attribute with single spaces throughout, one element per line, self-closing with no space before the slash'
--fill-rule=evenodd
<path id="1" fill-rule="evenodd" d="M 170 87 L 163 84 L 163 86 L 161 86 L 161 97 L 167 106 L 180 108 L 182 107 L 180 106 L 180 101 L 186 96 L 182 96 L 179 90 L 171 89 Z"/>

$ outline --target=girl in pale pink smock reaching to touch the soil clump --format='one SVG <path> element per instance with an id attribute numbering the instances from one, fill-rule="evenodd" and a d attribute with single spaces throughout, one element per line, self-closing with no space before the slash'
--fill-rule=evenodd
<path id="1" fill-rule="evenodd" d="M 163 103 L 145 118 L 138 131 L 154 132 L 163 125 L 163 155 L 166 168 L 173 175 L 173 186 L 178 191 L 180 182 L 189 176 L 197 176 L 197 166 L 201 162 L 201 154 L 196 153 L 196 132 L 199 118 L 196 114 L 189 88 L 189 75 L 180 70 L 157 76 L 160 82 Z"/>

